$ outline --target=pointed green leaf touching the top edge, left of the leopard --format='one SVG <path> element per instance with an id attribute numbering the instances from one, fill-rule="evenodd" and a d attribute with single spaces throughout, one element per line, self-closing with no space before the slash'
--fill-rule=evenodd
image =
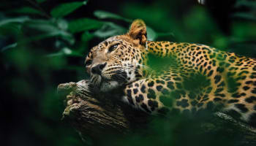
<path id="1" fill-rule="evenodd" d="M 85 4 L 87 4 L 87 1 L 75 1 L 60 4 L 59 6 L 53 8 L 50 14 L 53 16 L 53 18 L 62 18 Z"/>

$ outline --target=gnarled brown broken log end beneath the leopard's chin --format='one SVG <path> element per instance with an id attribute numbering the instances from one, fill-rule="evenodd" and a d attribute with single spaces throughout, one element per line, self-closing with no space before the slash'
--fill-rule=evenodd
<path id="1" fill-rule="evenodd" d="M 60 84 L 58 92 L 63 97 L 67 95 L 63 120 L 68 120 L 82 136 L 96 140 L 102 135 L 122 136 L 149 121 L 146 113 L 126 104 L 92 97 L 87 80 Z"/>

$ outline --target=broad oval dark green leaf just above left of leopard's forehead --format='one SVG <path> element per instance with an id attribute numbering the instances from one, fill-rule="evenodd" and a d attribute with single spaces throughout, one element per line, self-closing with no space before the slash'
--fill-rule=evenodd
<path id="1" fill-rule="evenodd" d="M 102 27 L 102 22 L 90 18 L 80 18 L 69 23 L 69 31 L 72 33 L 88 31 Z"/>

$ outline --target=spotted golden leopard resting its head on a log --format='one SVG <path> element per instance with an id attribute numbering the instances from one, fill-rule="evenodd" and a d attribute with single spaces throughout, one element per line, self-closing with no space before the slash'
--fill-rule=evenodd
<path id="1" fill-rule="evenodd" d="M 156 69 L 148 64 L 152 57 Z M 256 127 L 256 59 L 187 42 L 150 41 L 134 20 L 126 34 L 105 39 L 86 55 L 99 93 L 151 115 L 221 111 Z"/>

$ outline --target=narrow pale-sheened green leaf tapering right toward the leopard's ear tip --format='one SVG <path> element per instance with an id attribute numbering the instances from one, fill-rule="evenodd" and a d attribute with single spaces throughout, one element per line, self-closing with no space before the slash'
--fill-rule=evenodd
<path id="1" fill-rule="evenodd" d="M 127 21 L 129 23 L 132 22 L 132 20 L 130 19 L 127 19 L 127 18 L 123 18 L 119 15 L 116 15 L 116 14 L 113 14 L 111 12 L 105 12 L 105 11 L 102 11 L 102 10 L 97 10 L 94 12 L 94 15 L 99 18 L 99 19 L 106 19 L 106 18 L 111 18 L 111 19 L 117 19 L 117 20 L 124 20 L 124 21 Z"/>

